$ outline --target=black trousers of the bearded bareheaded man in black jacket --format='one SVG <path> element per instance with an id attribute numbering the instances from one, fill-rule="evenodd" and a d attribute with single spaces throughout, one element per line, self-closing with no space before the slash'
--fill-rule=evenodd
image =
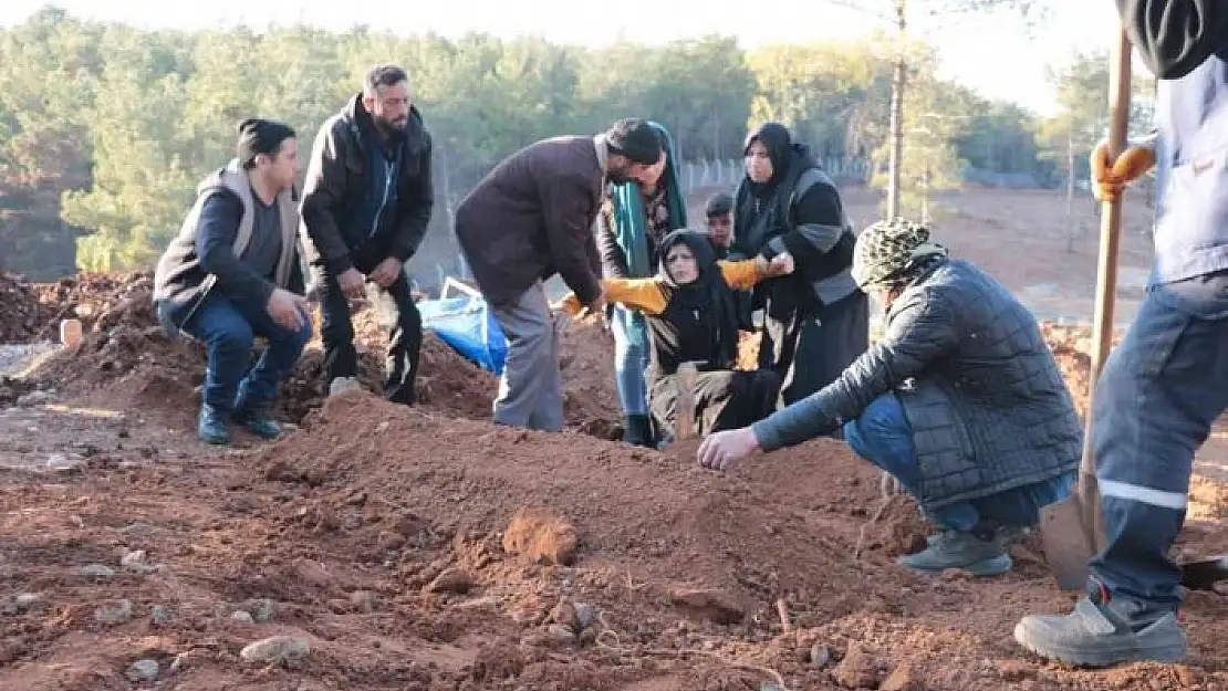
<path id="1" fill-rule="evenodd" d="M 375 250 L 356 252 L 354 268 L 362 274 L 373 271 L 387 254 Z M 321 309 L 324 323 L 324 371 L 330 384 L 338 377 L 356 377 L 359 353 L 354 347 L 354 319 L 350 301 L 341 293 L 336 276 L 324 274 L 321 287 Z M 388 400 L 413 405 L 418 358 L 422 349 L 422 315 L 409 292 L 409 276 L 400 275 L 387 288 L 368 285 L 379 325 L 388 329 L 388 352 L 384 361 L 384 395 Z M 373 295 L 371 295 L 373 292 Z"/>

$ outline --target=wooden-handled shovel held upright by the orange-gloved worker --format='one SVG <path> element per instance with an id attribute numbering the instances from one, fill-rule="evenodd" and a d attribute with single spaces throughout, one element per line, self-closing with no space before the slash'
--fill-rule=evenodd
<path id="1" fill-rule="evenodd" d="M 1130 39 L 1125 29 L 1114 45 L 1109 65 L 1109 149 L 1116 156 L 1126 147 L 1130 118 Z M 1092 404 L 1095 380 L 1113 342 L 1113 298 L 1117 290 L 1117 243 L 1121 237 L 1121 196 L 1105 201 L 1100 214 L 1100 257 L 1095 281 L 1095 314 L 1092 339 L 1092 371 L 1088 378 L 1083 459 L 1078 487 L 1070 497 L 1040 511 L 1040 538 L 1045 561 L 1063 590 L 1077 590 L 1087 582 L 1088 560 L 1104 544 L 1100 525 L 1100 491 L 1092 458 Z"/>

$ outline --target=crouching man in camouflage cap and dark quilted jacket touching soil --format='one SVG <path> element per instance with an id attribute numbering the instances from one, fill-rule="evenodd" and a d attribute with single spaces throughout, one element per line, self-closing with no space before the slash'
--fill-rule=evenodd
<path id="1" fill-rule="evenodd" d="M 852 276 L 883 306 L 887 331 L 817 394 L 699 449 L 723 470 L 844 431 L 942 528 L 900 558 L 941 573 L 1011 568 L 1008 538 L 1070 495 L 1082 447 L 1078 415 L 1035 318 L 997 281 L 930 242 L 906 220 L 874 223 Z"/>

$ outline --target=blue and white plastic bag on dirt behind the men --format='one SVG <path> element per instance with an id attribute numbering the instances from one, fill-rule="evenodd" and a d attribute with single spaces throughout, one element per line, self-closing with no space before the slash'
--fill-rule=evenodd
<path id="1" fill-rule="evenodd" d="M 507 341 L 486 301 L 476 296 L 425 299 L 418 303 L 422 328 L 483 369 L 503 373 Z"/>

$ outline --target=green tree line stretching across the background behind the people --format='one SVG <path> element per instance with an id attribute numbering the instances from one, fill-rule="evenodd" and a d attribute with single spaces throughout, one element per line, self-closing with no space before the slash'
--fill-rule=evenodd
<path id="1" fill-rule="evenodd" d="M 503 156 L 626 115 L 663 123 L 684 160 L 738 158 L 749 126 L 780 120 L 824 158 L 868 162 L 883 185 L 898 49 L 882 36 L 744 50 L 720 36 L 587 49 L 363 27 L 142 31 L 47 7 L 0 31 L 0 265 L 38 279 L 151 266 L 195 185 L 232 156 L 238 120 L 287 122 L 309 146 L 387 61 L 409 71 L 435 140 L 432 239 L 449 237 L 451 209 Z M 1063 139 L 1052 120 L 938 79 L 933 47 L 906 50 L 907 212 L 968 167 L 1056 185 L 1070 150 L 1089 149 L 1082 134 Z M 1070 129 L 1090 131 L 1084 120 L 1103 108 L 1068 115 Z"/>

